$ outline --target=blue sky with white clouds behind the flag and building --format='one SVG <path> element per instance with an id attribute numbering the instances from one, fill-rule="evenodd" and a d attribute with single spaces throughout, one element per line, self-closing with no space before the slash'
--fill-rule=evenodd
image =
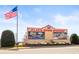
<path id="1" fill-rule="evenodd" d="M 0 6 L 0 38 L 3 30 L 10 29 L 16 34 L 16 17 L 6 20 L 4 14 L 15 5 Z M 27 27 L 51 25 L 56 28 L 67 28 L 68 35 L 79 34 L 78 5 L 19 5 L 19 41 L 22 41 Z"/>

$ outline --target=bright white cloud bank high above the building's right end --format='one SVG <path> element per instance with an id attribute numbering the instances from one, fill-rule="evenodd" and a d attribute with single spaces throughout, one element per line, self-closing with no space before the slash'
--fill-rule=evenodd
<path id="1" fill-rule="evenodd" d="M 64 16 L 62 14 L 57 14 L 54 16 L 55 22 L 59 22 L 62 25 L 65 25 L 67 23 L 71 22 L 78 22 L 79 21 L 79 12 L 77 13 L 72 13 L 71 15 Z"/>

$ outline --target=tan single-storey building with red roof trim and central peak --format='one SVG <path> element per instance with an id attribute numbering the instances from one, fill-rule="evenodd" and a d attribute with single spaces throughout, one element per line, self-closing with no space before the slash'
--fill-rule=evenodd
<path id="1" fill-rule="evenodd" d="M 28 27 L 24 44 L 70 44 L 67 29 L 57 29 L 50 25 L 42 28 Z"/>

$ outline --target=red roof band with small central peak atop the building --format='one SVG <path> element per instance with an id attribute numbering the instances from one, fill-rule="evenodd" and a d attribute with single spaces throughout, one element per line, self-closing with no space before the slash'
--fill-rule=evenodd
<path id="1" fill-rule="evenodd" d="M 42 28 L 35 28 L 35 27 L 28 27 L 27 28 L 27 31 L 34 31 L 34 32 L 44 32 L 44 31 L 64 32 L 66 30 L 67 29 L 57 29 L 57 28 L 54 28 L 51 25 L 46 25 Z"/>

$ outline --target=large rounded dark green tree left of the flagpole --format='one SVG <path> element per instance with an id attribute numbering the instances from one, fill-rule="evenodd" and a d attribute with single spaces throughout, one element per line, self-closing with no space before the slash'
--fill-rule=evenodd
<path id="1" fill-rule="evenodd" d="M 14 47 L 15 37 L 14 33 L 10 30 L 5 30 L 1 35 L 1 47 Z"/>

